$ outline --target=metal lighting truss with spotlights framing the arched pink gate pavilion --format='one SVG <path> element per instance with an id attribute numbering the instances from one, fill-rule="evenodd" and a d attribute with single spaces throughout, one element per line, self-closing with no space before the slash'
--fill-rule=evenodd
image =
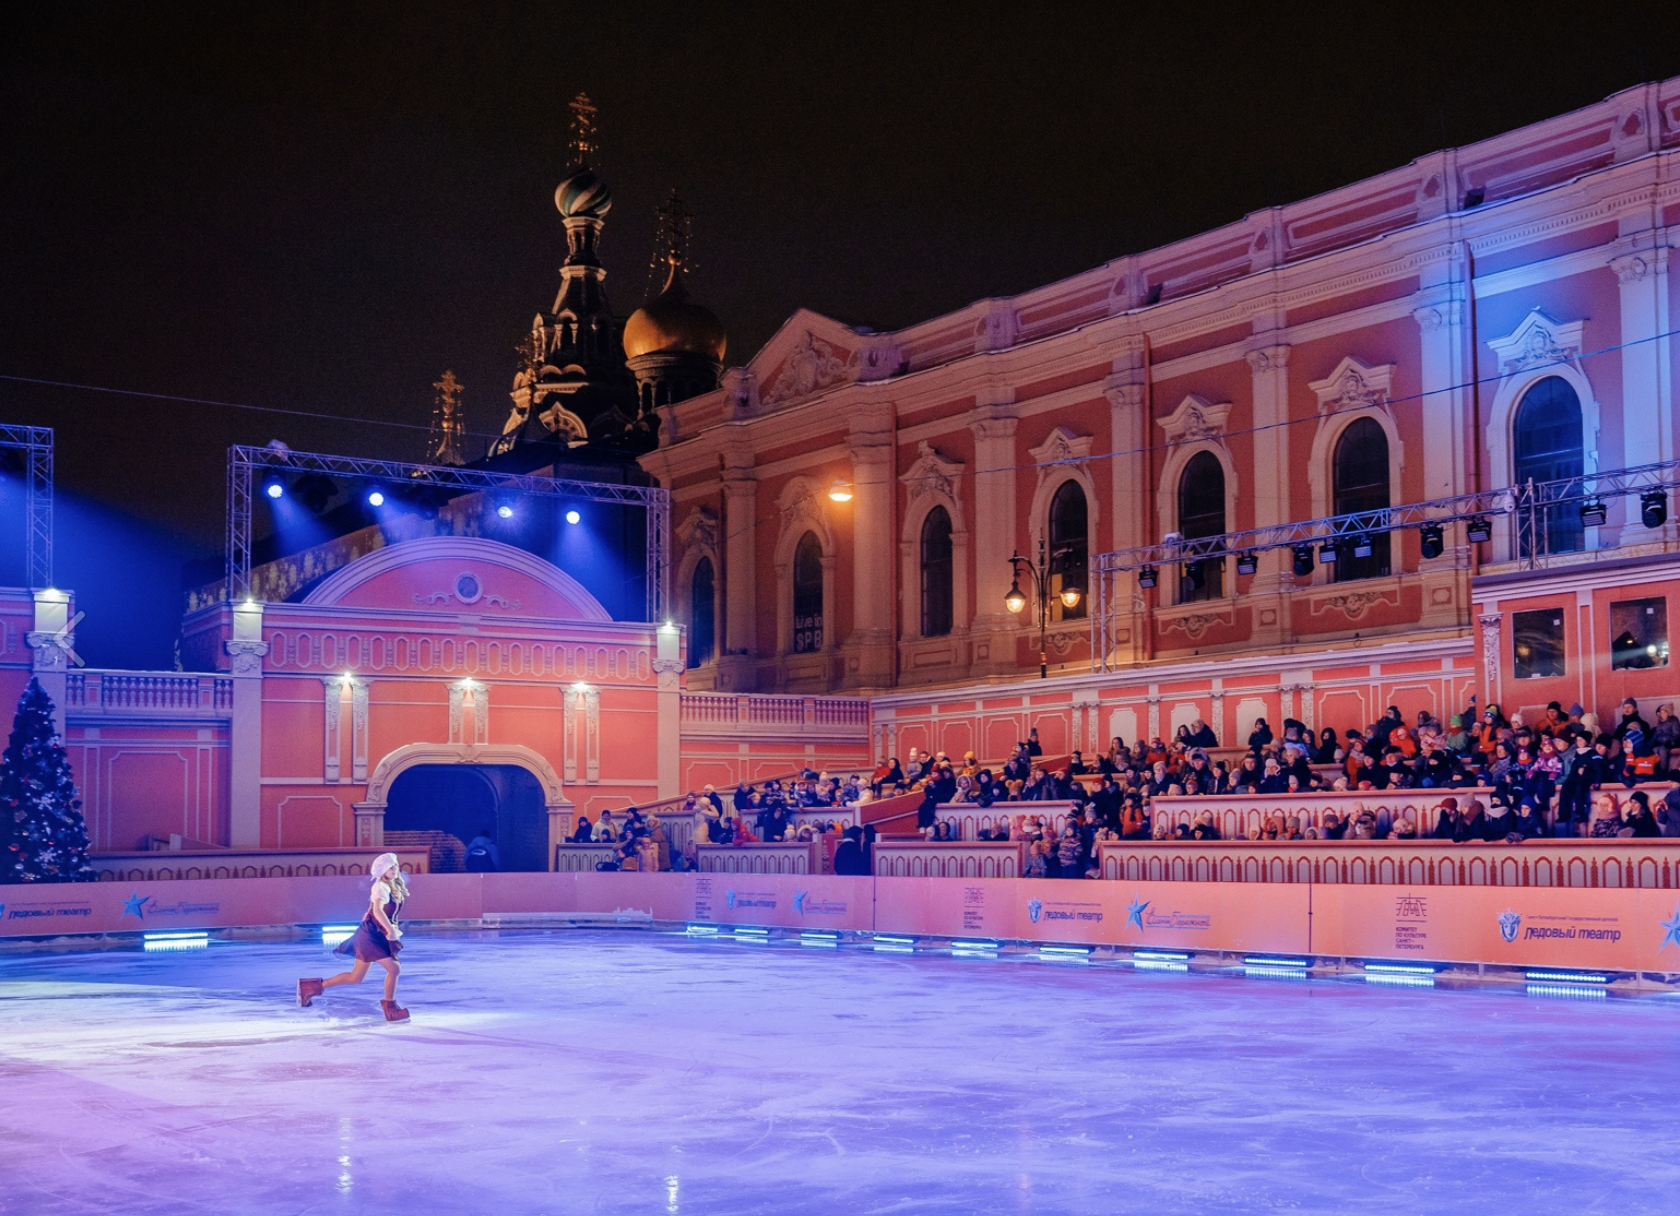
<path id="1" fill-rule="evenodd" d="M 47 432 L 47 469 L 50 490 L 52 448 Z M 583 482 L 538 474 L 499 474 L 460 465 L 423 465 L 405 460 L 294 452 L 282 447 L 249 447 L 235 443 L 227 450 L 227 596 L 237 603 L 250 595 L 252 487 L 264 472 L 286 470 L 323 474 L 346 480 L 371 480 L 403 487 L 440 490 L 511 492 L 543 499 L 578 499 L 642 507 L 647 517 L 647 620 L 665 620 L 665 549 L 670 542 L 670 490 L 659 485 L 620 485 Z M 50 534 L 49 534 L 50 536 Z M 49 549 L 50 564 L 50 549 Z"/>

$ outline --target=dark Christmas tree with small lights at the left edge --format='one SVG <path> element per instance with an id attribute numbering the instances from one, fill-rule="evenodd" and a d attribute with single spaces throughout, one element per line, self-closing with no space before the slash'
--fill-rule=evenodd
<path id="1" fill-rule="evenodd" d="M 52 697 L 30 680 L 0 759 L 0 882 L 84 882 L 87 823 L 71 757 L 52 726 Z"/>

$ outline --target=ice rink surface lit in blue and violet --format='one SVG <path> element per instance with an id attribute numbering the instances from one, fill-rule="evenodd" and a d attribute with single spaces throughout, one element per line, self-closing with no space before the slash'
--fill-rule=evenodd
<path id="1" fill-rule="evenodd" d="M 1677 1213 L 1680 1006 L 699 942 L 0 956 L 0 1211 Z"/>

